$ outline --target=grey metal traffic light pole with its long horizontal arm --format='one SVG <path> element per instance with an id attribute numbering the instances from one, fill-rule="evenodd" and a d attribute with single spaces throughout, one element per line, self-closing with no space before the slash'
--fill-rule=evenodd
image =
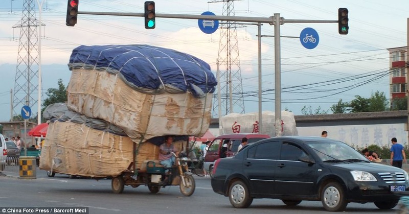
<path id="1" fill-rule="evenodd" d="M 117 12 L 89 12 L 89 11 L 78 11 L 78 14 L 87 15 L 110 15 L 110 16 L 137 16 L 144 17 L 144 13 L 117 13 Z M 180 18 L 180 19 L 206 19 L 206 20 L 219 20 L 219 21 L 241 21 L 241 22 L 253 22 L 258 23 L 268 23 L 269 25 L 274 25 L 274 46 L 275 46 L 275 127 L 276 136 L 281 136 L 282 130 L 282 120 L 281 120 L 281 45 L 280 45 L 280 25 L 284 23 L 338 23 L 338 20 L 308 20 L 308 19 L 284 19 L 280 17 L 280 13 L 275 13 L 274 16 L 270 17 L 247 17 L 247 16 L 217 16 L 217 15 L 189 15 L 189 14 L 163 14 L 156 13 L 157 18 Z M 261 31 L 259 30 L 259 35 Z M 260 66 L 260 60 L 259 60 Z M 261 69 L 259 70 L 261 71 Z M 260 75 L 260 74 L 259 74 Z M 261 76 L 261 75 L 260 75 Z M 259 86 L 260 87 L 260 86 Z M 220 93 L 220 92 L 219 92 Z M 259 100 L 261 99 L 261 94 Z M 261 105 L 260 105 L 261 106 Z M 260 111 L 260 107 L 259 107 Z M 259 112 L 260 117 L 261 112 Z M 220 117 L 221 115 L 219 115 Z M 260 118 L 259 118 L 260 120 Z M 261 124 L 261 121 L 259 121 Z"/>

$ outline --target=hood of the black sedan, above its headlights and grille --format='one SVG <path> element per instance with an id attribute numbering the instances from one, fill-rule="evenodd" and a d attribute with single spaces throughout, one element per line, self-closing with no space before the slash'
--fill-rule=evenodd
<path id="1" fill-rule="evenodd" d="M 334 164 L 333 167 L 344 168 L 350 171 L 358 170 L 370 173 L 404 172 L 402 169 L 392 167 L 390 165 L 373 162 L 338 163 Z"/>

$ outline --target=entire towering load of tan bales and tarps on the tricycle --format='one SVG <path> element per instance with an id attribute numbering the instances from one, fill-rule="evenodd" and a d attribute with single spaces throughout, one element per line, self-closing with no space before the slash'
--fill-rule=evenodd
<path id="1" fill-rule="evenodd" d="M 67 105 L 44 112 L 51 123 L 41 169 L 90 177 L 116 176 L 133 163 L 143 170 L 157 159 L 161 136 L 209 128 L 217 83 L 191 55 L 149 45 L 79 46 L 69 67 Z"/>

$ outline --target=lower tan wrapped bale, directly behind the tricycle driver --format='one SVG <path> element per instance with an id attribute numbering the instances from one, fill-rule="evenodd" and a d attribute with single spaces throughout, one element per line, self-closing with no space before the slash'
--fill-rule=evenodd
<path id="1" fill-rule="evenodd" d="M 49 124 L 41 149 L 40 169 L 87 177 L 117 176 L 133 162 L 144 169 L 146 160 L 157 160 L 159 147 L 144 141 L 137 145 L 129 137 L 89 128 L 72 122 Z M 181 149 L 181 144 L 175 144 Z"/>

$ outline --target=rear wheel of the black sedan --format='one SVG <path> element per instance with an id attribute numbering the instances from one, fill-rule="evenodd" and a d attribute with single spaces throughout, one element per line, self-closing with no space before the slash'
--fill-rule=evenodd
<path id="1" fill-rule="evenodd" d="M 246 208 L 253 202 L 247 185 L 241 180 L 235 181 L 230 185 L 229 200 L 236 208 Z"/>

